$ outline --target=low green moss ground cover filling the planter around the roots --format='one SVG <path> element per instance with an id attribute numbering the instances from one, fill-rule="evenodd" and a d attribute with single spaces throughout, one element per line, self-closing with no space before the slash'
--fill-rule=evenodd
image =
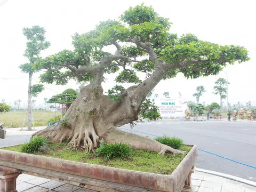
<path id="1" fill-rule="evenodd" d="M 129 158 L 106 160 L 95 154 L 85 154 L 82 151 L 71 149 L 67 143 L 51 143 L 49 147 L 51 150 L 47 153 L 37 153 L 36 155 L 158 174 L 171 174 L 192 148 L 182 146 L 180 150 L 186 151 L 186 153 L 175 156 L 173 154 L 160 156 L 157 155 L 157 152 L 132 149 L 132 155 Z M 21 152 L 21 146 L 4 149 Z"/>

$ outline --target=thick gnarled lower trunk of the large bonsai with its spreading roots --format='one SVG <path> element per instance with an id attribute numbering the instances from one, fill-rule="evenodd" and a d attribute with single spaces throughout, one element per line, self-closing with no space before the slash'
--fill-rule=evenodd
<path id="1" fill-rule="evenodd" d="M 129 143 L 133 148 L 159 151 L 161 155 L 166 151 L 181 153 L 155 140 L 116 128 L 138 119 L 140 104 L 133 103 L 133 88 L 122 93 L 123 102 L 115 102 L 102 94 L 101 86 L 87 85 L 81 89 L 63 117 L 67 119 L 66 123 L 47 127 L 34 135 L 49 138 L 53 142 L 68 141 L 71 147 L 84 147 L 86 152 L 97 148 L 99 141 L 104 140 L 107 143 Z"/>

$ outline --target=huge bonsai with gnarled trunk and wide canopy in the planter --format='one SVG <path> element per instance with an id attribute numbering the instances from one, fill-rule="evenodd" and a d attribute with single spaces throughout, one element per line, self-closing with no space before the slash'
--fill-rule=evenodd
<path id="1" fill-rule="evenodd" d="M 73 36 L 74 50 L 63 50 L 38 62 L 44 70 L 41 81 L 65 85 L 69 79 L 90 82 L 81 88 L 76 100 L 63 117 L 66 126 L 47 127 L 34 134 L 52 142 L 68 141 L 86 151 L 97 148 L 99 139 L 106 143 L 128 143 L 136 149 L 182 153 L 140 135 L 117 127 L 138 119 L 142 102 L 162 80 L 182 73 L 187 78 L 218 74 L 236 61 L 249 60 L 241 46 L 221 46 L 199 40 L 195 35 L 170 34 L 171 22 L 160 17 L 150 6 L 130 7 L 120 20 L 100 22 L 95 29 Z M 108 47 L 115 48 L 107 52 Z M 104 49 L 103 49 L 104 48 Z M 111 49 L 113 50 L 113 49 Z M 118 85 L 103 94 L 105 74 L 120 71 Z M 146 74 L 140 79 L 136 71 Z M 122 89 L 121 89 L 122 87 Z"/>

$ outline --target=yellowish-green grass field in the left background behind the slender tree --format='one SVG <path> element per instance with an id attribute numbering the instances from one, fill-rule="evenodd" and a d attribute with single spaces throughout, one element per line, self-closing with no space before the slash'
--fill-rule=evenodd
<path id="1" fill-rule="evenodd" d="M 0 113 L 0 122 L 5 122 L 5 128 L 21 127 L 26 111 L 10 111 L 8 113 Z M 61 111 L 56 111 L 56 115 L 61 115 Z M 55 116 L 54 111 L 48 110 L 33 110 L 35 126 L 46 126 L 47 121 Z M 28 121 L 25 121 L 27 126 Z M 31 122 L 32 123 L 32 122 Z"/>

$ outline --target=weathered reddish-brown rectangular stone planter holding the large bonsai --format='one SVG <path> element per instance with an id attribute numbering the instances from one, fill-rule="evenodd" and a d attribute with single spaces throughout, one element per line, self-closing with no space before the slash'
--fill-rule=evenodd
<path id="1" fill-rule="evenodd" d="M 193 146 L 171 175 L 162 175 L 0 149 L 0 186 L 4 192 L 16 191 L 16 178 L 25 173 L 108 192 L 192 191 L 196 157 L 197 146 Z"/>

